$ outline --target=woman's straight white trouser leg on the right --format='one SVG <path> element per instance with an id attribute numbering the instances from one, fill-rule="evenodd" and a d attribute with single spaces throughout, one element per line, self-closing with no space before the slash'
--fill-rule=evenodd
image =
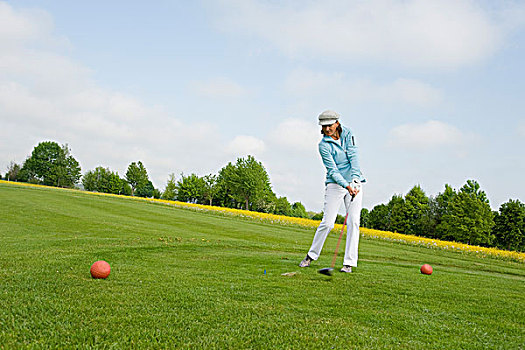
<path id="1" fill-rule="evenodd" d="M 361 208 L 363 207 L 363 186 L 361 191 L 351 200 L 348 194 L 345 197 L 345 206 L 348 213 L 346 230 L 346 249 L 343 265 L 357 266 L 357 255 L 359 246 L 359 223 L 361 220 Z"/>

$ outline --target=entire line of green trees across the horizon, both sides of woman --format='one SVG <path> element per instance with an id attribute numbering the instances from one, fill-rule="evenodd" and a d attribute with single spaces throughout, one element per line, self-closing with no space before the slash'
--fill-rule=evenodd
<path id="1" fill-rule="evenodd" d="M 1 178 L 1 176 L 0 176 Z M 121 177 L 109 168 L 97 167 L 81 174 L 69 146 L 39 143 L 22 165 L 11 162 L 5 174 L 10 181 L 57 187 L 81 182 L 87 191 L 162 198 L 278 215 L 321 220 L 323 213 L 307 212 L 300 202 L 277 197 L 261 162 L 252 156 L 229 162 L 217 174 L 170 174 L 164 191 L 149 180 L 141 161 L 129 164 Z M 342 223 L 342 215 L 337 222 Z M 468 180 L 459 190 L 445 185 L 442 193 L 427 196 L 419 185 L 404 197 L 393 195 L 387 204 L 371 211 L 363 208 L 361 226 L 384 231 L 456 241 L 507 250 L 525 251 L 525 205 L 509 200 L 492 211 L 479 183 Z"/>

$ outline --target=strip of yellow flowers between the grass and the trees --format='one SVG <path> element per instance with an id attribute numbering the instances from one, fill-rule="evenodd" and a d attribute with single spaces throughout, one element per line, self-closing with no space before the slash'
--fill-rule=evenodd
<path id="1" fill-rule="evenodd" d="M 22 182 L 8 182 L 8 181 L 3 181 L 3 180 L 0 180 L 0 183 L 19 185 L 19 186 L 54 188 L 54 187 L 28 184 L 28 183 L 22 183 Z M 74 190 L 74 189 L 61 189 L 61 190 L 76 191 L 76 192 L 81 192 L 81 193 L 90 194 L 90 195 L 113 196 L 113 197 L 127 198 L 127 199 L 147 201 L 147 202 L 153 202 L 153 203 L 162 203 L 166 205 L 171 205 L 171 206 L 175 206 L 179 208 L 187 208 L 187 209 L 192 209 L 192 210 L 213 211 L 213 212 L 223 213 L 226 215 L 234 215 L 234 216 L 239 216 L 239 217 L 252 218 L 252 219 L 262 220 L 265 222 L 276 223 L 280 225 L 298 225 L 302 227 L 309 227 L 312 229 L 317 228 L 317 226 L 319 225 L 319 221 L 316 221 L 316 220 L 259 213 L 259 212 L 254 212 L 254 211 L 241 210 L 241 209 L 216 207 L 216 206 L 209 206 L 209 205 L 203 205 L 203 204 L 191 204 L 191 203 L 184 203 L 184 202 L 178 202 L 178 201 L 169 201 L 169 200 L 164 200 L 164 199 L 129 197 L 129 196 L 116 195 L 116 194 L 109 194 L 109 193 L 87 192 L 87 191 L 80 191 L 80 190 Z M 341 228 L 342 228 L 341 224 L 336 224 L 334 227 L 334 230 L 340 231 Z M 438 239 L 405 235 L 405 234 L 389 232 L 389 231 L 380 231 L 380 230 L 374 230 L 374 229 L 364 228 L 364 227 L 361 228 L 361 235 L 364 237 L 384 239 L 384 240 L 389 240 L 393 242 L 420 245 L 420 246 L 425 246 L 425 247 L 433 248 L 433 249 L 446 249 L 446 250 L 454 250 L 458 252 L 473 253 L 480 257 L 494 256 L 494 257 L 501 257 L 501 258 L 512 259 L 512 260 L 516 260 L 520 262 L 525 262 L 525 253 L 501 250 L 497 248 L 479 247 L 479 246 L 473 246 L 473 245 L 468 245 L 464 243 L 441 241 Z"/>

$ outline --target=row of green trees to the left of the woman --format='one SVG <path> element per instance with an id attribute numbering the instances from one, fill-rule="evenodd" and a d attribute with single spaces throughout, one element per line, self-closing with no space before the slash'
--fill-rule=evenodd
<path id="1" fill-rule="evenodd" d="M 75 187 L 86 191 L 127 196 L 162 198 L 198 204 L 253 210 L 307 218 L 300 202 L 290 203 L 273 192 L 268 173 L 253 156 L 229 162 L 217 174 L 198 176 L 170 174 L 164 191 L 153 186 L 141 161 L 129 164 L 126 174 L 102 166 L 81 174 L 79 162 L 69 146 L 53 141 L 39 143 L 22 165 L 11 162 L 5 174 L 10 181 L 23 181 L 56 187 Z"/>

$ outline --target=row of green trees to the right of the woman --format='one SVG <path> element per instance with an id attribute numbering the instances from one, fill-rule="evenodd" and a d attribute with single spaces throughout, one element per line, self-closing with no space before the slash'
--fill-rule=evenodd
<path id="1" fill-rule="evenodd" d="M 485 247 L 525 251 L 525 205 L 510 199 L 492 211 L 487 195 L 475 180 L 459 190 L 445 185 L 427 196 L 419 185 L 404 197 L 363 209 L 361 225 L 368 228 L 456 241 Z"/>

